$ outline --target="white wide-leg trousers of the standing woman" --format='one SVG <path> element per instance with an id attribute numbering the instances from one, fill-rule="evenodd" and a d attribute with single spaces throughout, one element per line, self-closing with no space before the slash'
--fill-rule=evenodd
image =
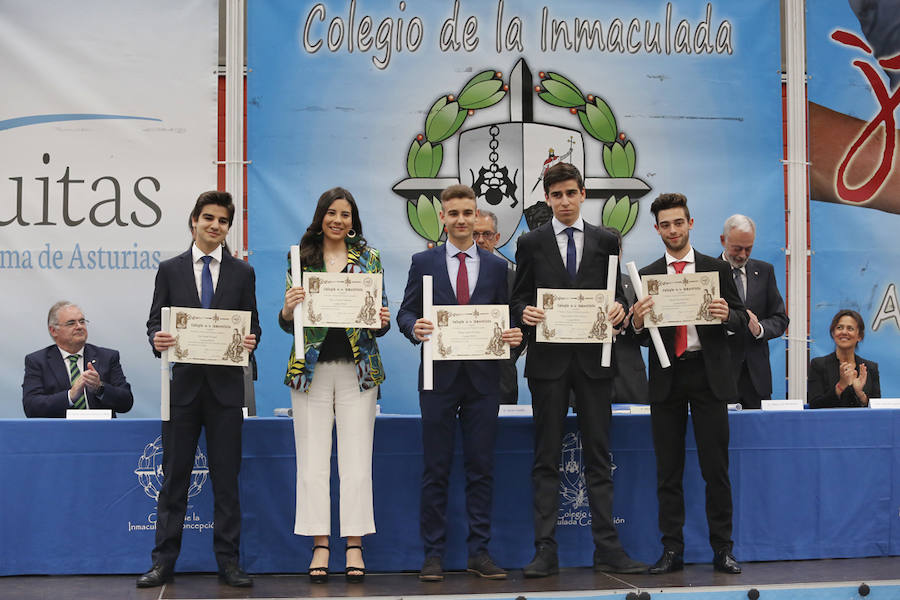
<path id="1" fill-rule="evenodd" d="M 378 388 L 359 391 L 353 363 L 316 365 L 308 392 L 291 390 L 297 449 L 294 533 L 331 535 L 331 432 L 337 423 L 341 537 L 375 533 L 372 439 Z"/>

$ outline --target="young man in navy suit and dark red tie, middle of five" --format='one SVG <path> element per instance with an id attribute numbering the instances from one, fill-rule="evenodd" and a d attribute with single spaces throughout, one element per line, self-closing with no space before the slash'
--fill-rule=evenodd
<path id="1" fill-rule="evenodd" d="M 507 304 L 506 261 L 478 248 L 472 232 L 477 209 L 475 192 L 453 185 L 441 194 L 440 218 L 447 242 L 412 257 L 397 323 L 414 344 L 428 339 L 433 323 L 423 315 L 422 276 L 433 277 L 435 305 Z M 518 328 L 502 332 L 504 342 L 518 346 Z M 467 570 L 488 579 L 505 579 L 506 571 L 488 554 L 494 487 L 494 438 L 500 404 L 500 363 L 494 360 L 437 361 L 434 389 L 422 389 L 422 474 L 420 526 L 425 542 L 422 581 L 442 581 L 447 538 L 447 486 L 453 462 L 453 440 L 459 416 L 466 467 L 466 510 L 469 516 Z"/>

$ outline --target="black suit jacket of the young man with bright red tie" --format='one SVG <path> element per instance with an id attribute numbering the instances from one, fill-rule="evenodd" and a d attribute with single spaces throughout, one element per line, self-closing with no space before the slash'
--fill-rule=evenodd
<path id="1" fill-rule="evenodd" d="M 721 325 L 701 325 L 697 327 L 697 335 L 700 338 L 700 346 L 703 349 L 703 362 L 706 367 L 706 377 L 709 387 L 712 389 L 716 398 L 722 402 L 728 402 L 737 395 L 736 377 L 734 373 L 734 363 L 731 359 L 729 350 L 729 341 L 727 331 L 741 331 L 747 328 L 747 310 L 741 303 L 738 296 L 737 287 L 734 285 L 734 279 L 731 276 L 731 266 L 719 258 L 700 254 L 694 249 L 694 268 L 697 273 L 715 272 L 719 273 L 719 289 L 722 291 L 722 298 L 728 302 L 728 321 Z M 659 258 L 653 263 L 640 270 L 641 275 L 664 275 L 667 273 L 665 256 Z M 666 347 L 666 353 L 669 355 L 669 361 L 674 362 L 675 358 L 675 328 L 660 327 L 659 333 L 662 336 L 663 344 Z M 641 330 L 643 343 L 650 341 L 650 334 L 645 327 Z M 650 352 L 650 403 L 663 402 L 669 396 L 672 389 L 672 367 L 663 369 L 659 365 L 659 357 L 656 351 L 651 347 Z"/>

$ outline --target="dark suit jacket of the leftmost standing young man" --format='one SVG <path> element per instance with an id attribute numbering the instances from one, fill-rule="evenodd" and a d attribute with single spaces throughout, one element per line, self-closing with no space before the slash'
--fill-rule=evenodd
<path id="1" fill-rule="evenodd" d="M 151 348 L 154 334 L 161 329 L 160 310 L 164 306 L 201 308 L 190 250 L 159 265 L 153 303 L 147 319 L 147 336 Z M 250 333 L 256 334 L 257 347 L 259 346 L 262 331 L 256 313 L 256 275 L 253 267 L 227 252 L 222 252 L 219 281 L 211 308 L 250 311 Z M 153 353 L 159 356 L 156 348 L 153 348 Z M 190 404 L 197 396 L 204 378 L 224 406 L 244 405 L 244 373 L 241 367 L 188 363 L 176 363 L 172 367 L 172 404 Z"/>

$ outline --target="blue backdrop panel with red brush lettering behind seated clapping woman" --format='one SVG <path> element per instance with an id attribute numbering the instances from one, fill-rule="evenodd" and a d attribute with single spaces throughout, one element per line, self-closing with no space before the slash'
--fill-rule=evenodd
<path id="1" fill-rule="evenodd" d="M 828 329 L 839 309 L 859 311 L 859 354 L 880 363 L 882 395 L 897 396 L 900 11 L 885 1 L 807 5 L 810 357 L 834 350 Z"/>

